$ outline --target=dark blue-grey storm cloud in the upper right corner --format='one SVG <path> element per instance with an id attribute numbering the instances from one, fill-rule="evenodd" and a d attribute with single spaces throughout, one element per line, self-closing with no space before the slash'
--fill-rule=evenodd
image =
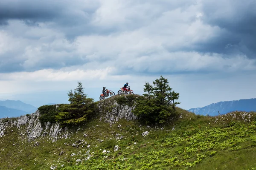
<path id="1" fill-rule="evenodd" d="M 208 0 L 203 3 L 202 20 L 221 28 L 206 43 L 198 43 L 200 51 L 240 53 L 256 58 L 256 1 Z"/>

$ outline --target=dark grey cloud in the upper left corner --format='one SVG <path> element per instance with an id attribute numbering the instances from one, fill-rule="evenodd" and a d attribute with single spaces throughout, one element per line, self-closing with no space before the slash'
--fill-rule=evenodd
<path id="1" fill-rule="evenodd" d="M 60 26 L 69 26 L 88 22 L 96 10 L 97 2 L 81 2 L 80 0 L 1 0 L 0 24 L 8 20 L 24 20 L 32 26 L 37 22 L 52 21 Z M 81 3 L 81 4 L 80 4 Z M 32 24 L 32 25 L 31 25 Z M 83 23 L 84 24 L 84 23 Z"/>

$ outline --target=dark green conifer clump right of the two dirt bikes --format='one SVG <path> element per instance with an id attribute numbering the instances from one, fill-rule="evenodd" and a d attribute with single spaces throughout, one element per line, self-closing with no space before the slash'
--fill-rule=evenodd
<path id="1" fill-rule="evenodd" d="M 148 82 L 145 83 L 146 94 L 143 94 L 145 97 L 137 101 L 133 111 L 145 123 L 164 123 L 177 116 L 175 106 L 180 102 L 175 100 L 179 98 L 179 94 L 172 91 L 168 83 L 168 80 L 162 76 L 153 82 L 154 87 Z"/>

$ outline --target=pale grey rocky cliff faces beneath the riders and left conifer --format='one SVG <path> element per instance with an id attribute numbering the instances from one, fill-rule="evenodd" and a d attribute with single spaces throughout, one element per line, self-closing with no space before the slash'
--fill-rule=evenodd
<path id="1" fill-rule="evenodd" d="M 58 105 L 56 105 L 58 107 Z M 134 107 L 128 105 L 119 105 L 115 101 L 99 102 L 99 112 L 96 117 L 99 121 L 113 124 L 119 119 L 135 120 L 137 117 L 131 112 Z M 52 142 L 57 139 L 69 138 L 72 132 L 67 127 L 61 127 L 58 123 L 47 122 L 44 125 L 39 121 L 40 112 L 36 111 L 30 115 L 20 116 L 18 118 L 0 119 L 0 136 L 4 136 L 6 129 L 17 127 L 20 135 L 26 136 L 28 141 L 32 141 L 41 136 L 47 137 Z M 21 128 L 22 127 L 22 128 Z"/>

